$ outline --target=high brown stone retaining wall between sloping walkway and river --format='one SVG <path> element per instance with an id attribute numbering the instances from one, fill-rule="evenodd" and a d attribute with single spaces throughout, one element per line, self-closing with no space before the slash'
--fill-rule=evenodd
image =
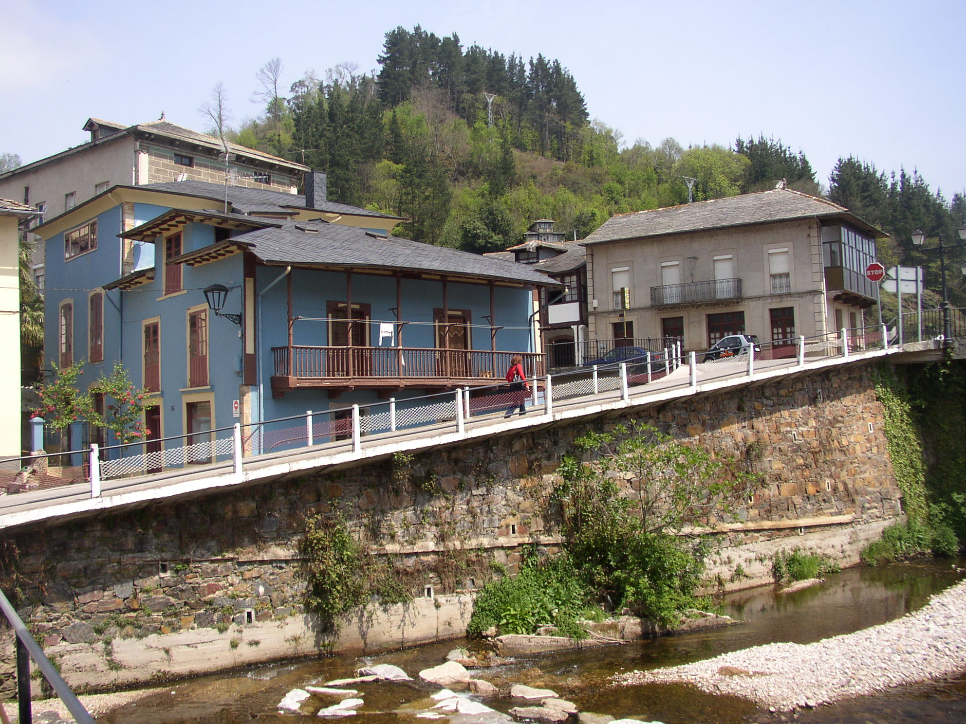
<path id="1" fill-rule="evenodd" d="M 761 582 L 769 551 L 812 539 L 854 563 L 861 543 L 900 515 L 882 412 L 869 368 L 857 365 L 23 530 L 4 542 L 0 563 L 16 568 L 21 615 L 77 685 L 199 673 L 321 647 L 374 652 L 461 635 L 473 589 L 495 569 L 514 571 L 523 545 L 560 542 L 548 498 L 573 440 L 628 418 L 760 473 L 760 489 L 732 515 L 706 521 L 729 548 L 711 562 L 720 585 Z M 370 606 L 337 638 L 304 613 L 296 553 L 304 515 L 332 510 L 387 557 L 415 597 L 406 606 Z"/>

